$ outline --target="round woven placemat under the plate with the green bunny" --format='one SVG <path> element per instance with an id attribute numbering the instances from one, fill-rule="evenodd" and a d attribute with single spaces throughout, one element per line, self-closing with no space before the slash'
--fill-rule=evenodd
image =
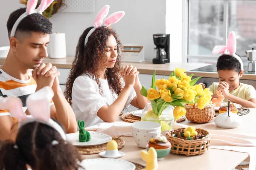
<path id="1" fill-rule="evenodd" d="M 125 146 L 125 141 L 121 138 L 116 138 L 112 136 L 112 138 L 116 141 L 117 145 L 118 145 L 118 149 L 121 149 L 122 147 Z M 105 144 L 100 144 L 97 146 L 91 146 L 91 147 L 76 147 L 78 152 L 80 154 L 84 154 L 84 155 L 91 155 L 91 154 L 97 154 L 100 153 L 102 151 L 105 151 L 107 147 L 107 143 Z"/>

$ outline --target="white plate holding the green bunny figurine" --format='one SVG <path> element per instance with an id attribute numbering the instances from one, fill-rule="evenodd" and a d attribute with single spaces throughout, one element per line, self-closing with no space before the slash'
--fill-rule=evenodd
<path id="1" fill-rule="evenodd" d="M 104 144 L 112 140 L 112 137 L 103 134 L 103 133 L 96 133 L 92 131 L 88 131 L 90 133 L 91 139 L 88 142 L 79 142 L 79 132 L 76 133 L 69 133 L 67 134 L 67 141 L 71 142 L 75 146 L 96 146 L 99 144 Z"/>

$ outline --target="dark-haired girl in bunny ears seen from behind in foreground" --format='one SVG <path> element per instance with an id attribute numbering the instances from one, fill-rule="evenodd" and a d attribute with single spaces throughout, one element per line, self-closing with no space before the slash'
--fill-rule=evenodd
<path id="1" fill-rule="evenodd" d="M 17 97 L 0 99 L 0 108 L 8 109 L 20 122 L 16 142 L 0 146 L 0 170 L 78 170 L 81 156 L 66 142 L 61 125 L 50 119 L 49 104 L 53 91 L 49 87 L 30 95 L 27 100 L 31 115 L 22 111 Z"/>

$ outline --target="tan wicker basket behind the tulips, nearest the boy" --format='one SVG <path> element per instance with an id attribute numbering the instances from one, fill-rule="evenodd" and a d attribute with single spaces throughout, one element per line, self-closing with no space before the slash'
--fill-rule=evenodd
<path id="1" fill-rule="evenodd" d="M 187 105 L 186 107 L 186 119 L 195 123 L 207 123 L 210 122 L 215 115 L 215 103 L 205 106 L 204 109 L 199 109 L 197 105 Z"/>

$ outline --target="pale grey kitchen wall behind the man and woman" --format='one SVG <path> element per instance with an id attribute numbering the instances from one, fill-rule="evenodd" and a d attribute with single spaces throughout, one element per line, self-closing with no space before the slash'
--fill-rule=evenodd
<path id="1" fill-rule="evenodd" d="M 143 45 L 145 59 L 151 60 L 154 51 L 153 34 L 166 32 L 166 0 L 95 0 L 94 13 L 54 14 L 50 18 L 53 32 L 66 33 L 67 55 L 75 55 L 79 36 L 84 29 L 93 25 L 95 15 L 106 4 L 110 5 L 110 13 L 125 11 L 122 20 L 113 24 L 113 29 L 119 34 L 122 44 Z M 9 14 L 19 7 L 24 7 L 19 0 L 5 0 L 1 3 L 0 46 L 9 45 L 6 22 Z"/>

